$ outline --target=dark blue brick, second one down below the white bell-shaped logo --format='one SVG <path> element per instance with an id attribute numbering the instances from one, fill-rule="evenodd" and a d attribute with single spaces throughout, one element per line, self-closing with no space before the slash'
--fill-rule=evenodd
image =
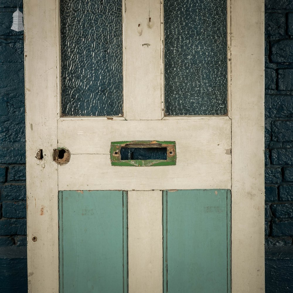
<path id="1" fill-rule="evenodd" d="M 2 63 L 0 66 L 0 89 L 19 89 L 24 84 L 24 64 Z"/>

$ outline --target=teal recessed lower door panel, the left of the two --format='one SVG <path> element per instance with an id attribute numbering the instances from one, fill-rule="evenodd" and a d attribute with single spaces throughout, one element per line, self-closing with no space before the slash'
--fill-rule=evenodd
<path id="1" fill-rule="evenodd" d="M 127 196 L 59 192 L 60 293 L 127 293 Z"/>

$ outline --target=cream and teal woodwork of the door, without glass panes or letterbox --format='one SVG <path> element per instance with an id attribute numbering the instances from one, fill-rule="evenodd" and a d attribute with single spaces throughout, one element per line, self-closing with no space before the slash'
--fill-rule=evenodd
<path id="1" fill-rule="evenodd" d="M 122 12 L 123 117 L 62 117 L 59 1 L 24 2 L 30 292 L 264 292 L 262 1 L 228 1 L 224 116 L 164 117 L 163 2 Z"/>

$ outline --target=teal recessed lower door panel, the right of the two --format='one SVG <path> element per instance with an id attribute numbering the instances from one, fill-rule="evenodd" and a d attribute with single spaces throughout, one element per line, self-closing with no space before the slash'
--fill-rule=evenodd
<path id="1" fill-rule="evenodd" d="M 163 292 L 230 293 L 230 190 L 163 192 Z"/>

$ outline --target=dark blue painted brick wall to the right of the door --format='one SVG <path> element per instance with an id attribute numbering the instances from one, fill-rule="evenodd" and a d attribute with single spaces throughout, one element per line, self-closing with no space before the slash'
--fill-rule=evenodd
<path id="1" fill-rule="evenodd" d="M 293 1 L 265 1 L 266 293 L 293 292 Z"/>

